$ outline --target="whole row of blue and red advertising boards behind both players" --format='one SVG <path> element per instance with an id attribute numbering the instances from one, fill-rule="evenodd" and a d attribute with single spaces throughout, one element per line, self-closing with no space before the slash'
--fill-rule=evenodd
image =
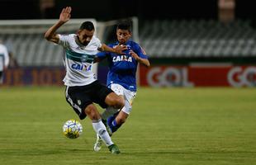
<path id="1" fill-rule="evenodd" d="M 108 68 L 100 65 L 97 78 L 105 83 Z M 255 64 L 192 63 L 154 64 L 139 68 L 143 87 L 256 87 Z M 4 86 L 62 86 L 65 70 L 59 67 L 9 68 L 4 73 Z"/>

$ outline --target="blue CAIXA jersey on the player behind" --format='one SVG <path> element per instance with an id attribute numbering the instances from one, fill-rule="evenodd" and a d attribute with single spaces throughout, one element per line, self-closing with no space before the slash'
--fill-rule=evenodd
<path id="1" fill-rule="evenodd" d="M 108 45 L 113 48 L 119 42 Z M 114 54 L 111 52 L 100 52 L 97 57 L 100 59 L 107 58 L 109 72 L 107 73 L 107 86 L 111 83 L 118 83 L 126 89 L 135 92 L 136 87 L 136 71 L 138 62 L 129 54 L 133 50 L 142 59 L 148 59 L 145 51 L 132 40 L 126 42 L 127 50 L 125 54 Z"/>

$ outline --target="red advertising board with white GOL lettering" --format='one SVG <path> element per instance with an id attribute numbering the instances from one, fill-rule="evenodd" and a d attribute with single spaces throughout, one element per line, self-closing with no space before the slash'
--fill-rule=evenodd
<path id="1" fill-rule="evenodd" d="M 255 65 L 190 64 L 140 66 L 140 86 L 255 87 Z"/>

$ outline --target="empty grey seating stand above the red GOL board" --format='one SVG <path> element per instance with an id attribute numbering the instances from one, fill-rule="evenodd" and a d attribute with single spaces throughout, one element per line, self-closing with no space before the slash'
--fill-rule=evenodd
<path id="1" fill-rule="evenodd" d="M 255 57 L 250 21 L 145 21 L 140 44 L 150 57 Z"/>

